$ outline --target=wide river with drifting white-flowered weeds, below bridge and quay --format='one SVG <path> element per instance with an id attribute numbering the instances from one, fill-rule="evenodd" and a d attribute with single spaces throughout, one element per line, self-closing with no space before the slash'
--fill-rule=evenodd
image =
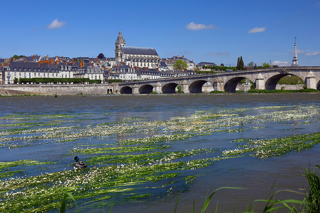
<path id="1" fill-rule="evenodd" d="M 0 162 L 37 162 L 0 167 L 0 172 L 18 171 L 12 175 L 15 180 L 0 176 L 6 185 L 12 184 L 7 191 L 0 185 L 0 204 L 5 206 L 0 210 L 7 212 L 36 205 L 56 212 L 61 195 L 50 193 L 59 189 L 72 192 L 79 212 L 101 212 L 102 205 L 106 211 L 112 205 L 112 212 L 173 212 L 178 194 L 176 212 L 191 212 L 193 203 L 200 212 L 206 194 L 223 186 L 244 189 L 219 190 L 206 212 L 214 212 L 217 201 L 218 212 L 241 212 L 249 201 L 268 199 L 276 190 L 301 192 L 302 183 L 307 184 L 304 167 L 320 164 L 319 144 L 300 152 L 270 148 L 270 156 L 263 150 L 226 152 L 242 149 L 245 138 L 258 141 L 320 132 L 320 92 L 62 95 L 0 101 Z M 74 156 L 88 168 L 74 170 Z M 170 164 L 163 167 L 165 163 Z M 40 187 L 37 182 L 32 185 L 46 192 L 35 193 L 41 202 L 32 200 L 27 185 L 22 186 L 31 177 L 52 178 Z M 59 183 L 63 178 L 65 185 Z M 69 183 L 70 178 L 79 184 Z M 34 206 L 24 203 L 18 191 Z M 4 196 L 6 192 L 12 195 Z M 304 198 L 289 192 L 276 198 L 289 196 Z M 22 204 L 16 209 L 6 206 L 13 201 Z M 257 211 L 263 208 L 261 202 L 254 205 Z"/>

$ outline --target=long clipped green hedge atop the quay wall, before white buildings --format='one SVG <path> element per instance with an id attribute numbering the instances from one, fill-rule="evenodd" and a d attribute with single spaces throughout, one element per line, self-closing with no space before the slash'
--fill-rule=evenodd
<path id="1" fill-rule="evenodd" d="M 20 78 L 19 83 L 82 83 L 90 82 L 89 78 Z M 98 80 L 96 80 L 98 81 Z M 101 83 L 101 80 L 100 80 Z"/>

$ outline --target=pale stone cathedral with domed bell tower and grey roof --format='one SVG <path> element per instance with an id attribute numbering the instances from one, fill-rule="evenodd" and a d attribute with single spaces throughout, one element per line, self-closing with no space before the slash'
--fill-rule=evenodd
<path id="1" fill-rule="evenodd" d="M 115 44 L 116 63 L 121 62 L 130 67 L 157 68 L 159 66 L 160 57 L 155 48 L 127 47 L 121 31 Z"/>

